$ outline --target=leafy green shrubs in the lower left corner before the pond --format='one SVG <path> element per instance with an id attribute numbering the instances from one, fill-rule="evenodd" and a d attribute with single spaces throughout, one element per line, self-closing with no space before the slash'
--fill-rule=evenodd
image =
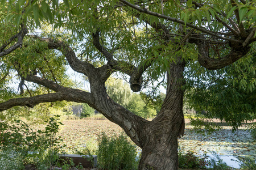
<path id="1" fill-rule="evenodd" d="M 56 137 L 61 125 L 61 122 L 57 121 L 58 117 L 49 118 L 45 130 L 37 132 L 20 120 L 14 121 L 13 124 L 0 122 L 0 149 L 3 153 L 13 150 L 14 156 L 18 154 L 23 164 L 31 163 L 39 169 L 52 169 L 59 159 L 60 152 L 61 139 Z"/>

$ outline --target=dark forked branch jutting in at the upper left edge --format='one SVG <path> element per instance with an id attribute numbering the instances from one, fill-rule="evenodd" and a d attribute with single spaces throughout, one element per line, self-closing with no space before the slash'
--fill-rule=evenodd
<path id="1" fill-rule="evenodd" d="M 21 48 L 24 36 L 28 33 L 28 30 L 25 25 L 22 24 L 21 27 L 22 29 L 16 35 L 11 37 L 5 44 L 3 44 L 0 47 L 0 57 L 10 54 L 11 52 L 13 52 L 15 49 L 19 47 Z M 11 42 L 13 42 L 17 38 L 18 38 L 18 41 L 13 46 L 10 46 L 10 48 L 5 49 L 8 45 L 11 44 Z"/>

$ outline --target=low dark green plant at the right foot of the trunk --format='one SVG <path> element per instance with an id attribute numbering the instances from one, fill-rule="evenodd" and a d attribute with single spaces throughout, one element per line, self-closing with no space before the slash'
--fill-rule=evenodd
<path id="1" fill-rule="evenodd" d="M 179 150 L 179 168 L 205 168 L 209 165 L 208 156 L 204 154 L 203 156 L 196 156 L 194 152 Z"/>

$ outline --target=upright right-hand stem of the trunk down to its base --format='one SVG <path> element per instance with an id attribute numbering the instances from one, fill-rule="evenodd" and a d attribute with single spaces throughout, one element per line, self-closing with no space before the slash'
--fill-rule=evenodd
<path id="1" fill-rule="evenodd" d="M 177 137 L 184 134 L 184 62 L 171 64 L 167 94 L 158 116 L 145 130 L 139 169 L 177 169 Z"/>

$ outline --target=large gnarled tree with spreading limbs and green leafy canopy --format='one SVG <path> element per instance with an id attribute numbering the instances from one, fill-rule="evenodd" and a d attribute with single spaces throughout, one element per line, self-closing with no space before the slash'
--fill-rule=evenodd
<path id="1" fill-rule="evenodd" d="M 220 70 L 255 57 L 255 1 L 9 0 L 0 8 L 0 80 L 6 94 L 0 111 L 63 100 L 87 103 L 142 148 L 139 169 L 177 169 L 184 70 Z M 48 32 L 35 35 L 38 27 Z M 65 65 L 88 78 L 90 92 L 65 84 Z M 129 76 L 135 92 L 166 77 L 166 98 L 152 121 L 109 97 L 105 82 L 115 72 Z M 4 88 L 13 75 L 19 79 L 16 95 Z M 25 82 L 42 93 L 25 93 Z"/>

